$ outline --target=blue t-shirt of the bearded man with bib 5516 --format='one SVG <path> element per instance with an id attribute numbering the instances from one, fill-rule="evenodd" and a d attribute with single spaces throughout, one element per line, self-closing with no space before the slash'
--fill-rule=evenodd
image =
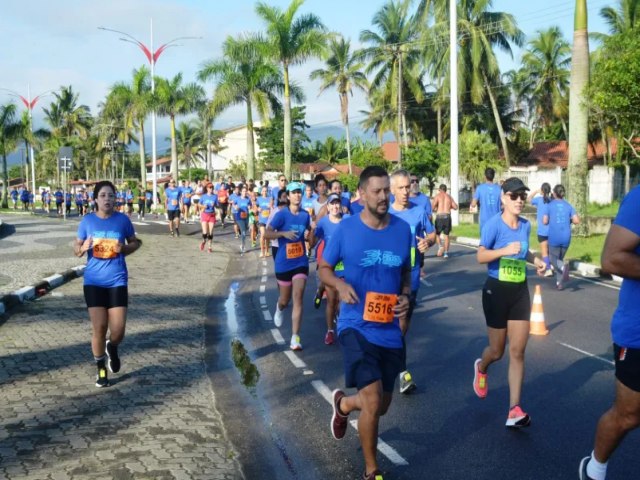
<path id="1" fill-rule="evenodd" d="M 386 348 L 402 348 L 400 322 L 364 319 L 367 292 L 398 295 L 402 275 L 411 269 L 411 230 L 409 225 L 391 215 L 382 230 L 365 225 L 360 215 L 344 219 L 325 247 L 324 260 L 335 267 L 344 264 L 344 280 L 353 287 L 359 302 L 341 302 L 338 334 L 347 328 L 362 333 L 368 342 Z M 358 239 L 354 241 L 354 239 Z"/>

